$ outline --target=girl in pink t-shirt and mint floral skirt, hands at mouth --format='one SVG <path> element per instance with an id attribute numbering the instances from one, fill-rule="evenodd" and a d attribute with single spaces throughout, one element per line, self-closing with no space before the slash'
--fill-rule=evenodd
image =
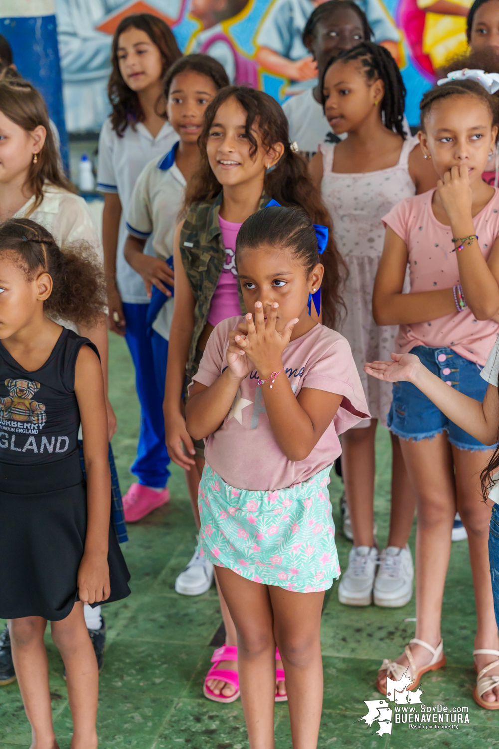
<path id="1" fill-rule="evenodd" d="M 238 316 L 215 326 L 186 407 L 187 431 L 206 440 L 199 548 L 217 565 L 236 625 L 250 746 L 274 743 L 277 643 L 293 747 L 312 748 L 322 601 L 340 574 L 325 492 L 337 435 L 369 414 L 348 343 L 307 309 L 324 267 L 304 211 L 269 207 L 246 219 L 236 266 L 247 333 Z"/>

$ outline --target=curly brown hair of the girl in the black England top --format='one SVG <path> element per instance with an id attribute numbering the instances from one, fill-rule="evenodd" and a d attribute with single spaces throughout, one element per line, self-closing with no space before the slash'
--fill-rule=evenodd
<path id="1" fill-rule="evenodd" d="M 31 219 L 9 219 L 0 225 L 0 255 L 11 255 L 28 279 L 46 272 L 52 294 L 43 304 L 50 315 L 89 327 L 105 312 L 104 272 L 88 243 L 60 249 L 52 234 Z"/>

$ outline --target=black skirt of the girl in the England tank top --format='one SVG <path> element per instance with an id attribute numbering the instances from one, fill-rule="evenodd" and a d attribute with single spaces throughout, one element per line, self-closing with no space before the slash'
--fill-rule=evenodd
<path id="1" fill-rule="evenodd" d="M 78 601 L 77 577 L 87 533 L 87 491 L 78 453 L 55 464 L 0 463 L 0 617 L 65 619 Z M 111 595 L 130 593 L 130 579 L 111 524 Z"/>

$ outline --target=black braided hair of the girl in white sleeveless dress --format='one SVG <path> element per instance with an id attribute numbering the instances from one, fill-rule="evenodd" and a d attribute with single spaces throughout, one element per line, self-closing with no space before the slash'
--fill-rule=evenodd
<path id="1" fill-rule="evenodd" d="M 382 80 L 385 84 L 385 94 L 383 94 L 381 103 L 383 124 L 385 124 L 385 127 L 388 127 L 388 130 L 394 130 L 405 140 L 405 133 L 402 127 L 405 106 L 405 85 L 397 63 L 385 47 L 373 44 L 373 42 L 361 42 L 357 46 L 352 47 L 352 49 L 347 49 L 337 57 L 331 58 L 325 66 L 322 75 L 321 91 L 324 90 L 325 75 L 334 62 L 351 62 L 354 60 L 361 61 L 369 83 Z M 322 106 L 324 105 L 325 100 L 322 94 Z"/>

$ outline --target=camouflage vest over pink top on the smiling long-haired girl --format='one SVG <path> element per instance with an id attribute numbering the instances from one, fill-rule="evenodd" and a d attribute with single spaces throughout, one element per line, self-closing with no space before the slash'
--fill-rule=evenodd
<path id="1" fill-rule="evenodd" d="M 220 273 L 225 262 L 225 247 L 218 225 L 218 211 L 220 210 L 222 193 L 213 201 L 193 203 L 183 222 L 180 231 L 180 255 L 189 285 L 194 294 L 194 330 L 186 364 L 188 380 L 195 375 L 198 366 L 195 362 L 198 340 L 206 325 L 209 303 L 212 300 Z M 258 210 L 269 202 L 269 195 L 262 193 Z M 241 286 L 237 281 L 241 314 L 246 312 L 242 300 Z"/>

